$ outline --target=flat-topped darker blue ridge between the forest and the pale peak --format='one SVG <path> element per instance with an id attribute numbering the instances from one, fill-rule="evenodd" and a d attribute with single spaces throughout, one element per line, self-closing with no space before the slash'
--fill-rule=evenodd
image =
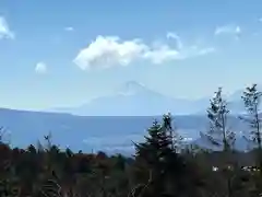
<path id="1" fill-rule="evenodd" d="M 133 152 L 133 143 L 143 140 L 146 128 L 154 119 L 160 116 L 75 116 L 59 113 L 27 112 L 0 108 L 0 126 L 3 126 L 10 136 L 12 146 L 25 148 L 49 131 L 52 141 L 61 148 L 70 147 L 73 151 L 103 150 L 107 153 Z M 237 117 L 230 116 L 229 126 L 236 131 L 247 130 L 247 125 Z M 207 118 L 202 115 L 174 116 L 174 127 L 184 138 L 192 139 L 192 143 L 206 146 L 200 138 L 200 131 L 206 131 Z M 239 147 L 246 147 L 239 138 Z M 209 146 L 209 144 L 207 144 Z"/>

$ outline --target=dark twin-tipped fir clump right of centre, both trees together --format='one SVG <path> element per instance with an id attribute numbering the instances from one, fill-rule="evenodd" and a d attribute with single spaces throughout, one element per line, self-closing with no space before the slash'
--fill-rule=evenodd
<path id="1" fill-rule="evenodd" d="M 188 193 L 186 185 L 192 182 L 181 181 L 189 171 L 176 150 L 180 138 L 171 127 L 170 114 L 164 115 L 162 124 L 154 121 L 147 131 L 145 141 L 135 143 L 135 174 L 140 188 L 143 183 L 140 196 L 177 196 Z"/>

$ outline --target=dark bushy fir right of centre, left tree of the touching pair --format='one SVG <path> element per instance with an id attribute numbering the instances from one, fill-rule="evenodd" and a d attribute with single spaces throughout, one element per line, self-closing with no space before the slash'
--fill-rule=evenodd
<path id="1" fill-rule="evenodd" d="M 159 196 L 164 193 L 165 160 L 172 152 L 171 139 L 164 128 L 155 120 L 153 126 L 147 129 L 148 136 L 144 137 L 145 142 L 135 143 L 136 174 L 139 173 L 140 176 L 139 182 L 144 183 L 143 189 L 140 192 L 141 196 L 145 194 Z"/>

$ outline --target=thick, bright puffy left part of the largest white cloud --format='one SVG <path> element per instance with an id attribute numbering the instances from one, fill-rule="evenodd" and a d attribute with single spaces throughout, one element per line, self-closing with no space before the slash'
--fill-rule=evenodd
<path id="1" fill-rule="evenodd" d="M 142 58 L 147 50 L 148 47 L 139 39 L 121 42 L 117 36 L 97 36 L 79 53 L 74 62 L 83 70 L 91 67 L 126 66 Z"/>

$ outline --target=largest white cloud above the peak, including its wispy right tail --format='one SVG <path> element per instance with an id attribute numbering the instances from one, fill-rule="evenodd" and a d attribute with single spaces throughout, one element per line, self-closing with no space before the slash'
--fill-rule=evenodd
<path id="1" fill-rule="evenodd" d="M 79 51 L 73 62 L 83 70 L 128 66 L 138 60 L 159 65 L 214 51 L 213 48 L 186 47 L 175 33 L 168 33 L 166 43 L 151 46 L 138 38 L 121 40 L 118 36 L 99 35 L 86 48 Z M 176 46 L 171 46 L 171 39 L 176 40 Z"/>

